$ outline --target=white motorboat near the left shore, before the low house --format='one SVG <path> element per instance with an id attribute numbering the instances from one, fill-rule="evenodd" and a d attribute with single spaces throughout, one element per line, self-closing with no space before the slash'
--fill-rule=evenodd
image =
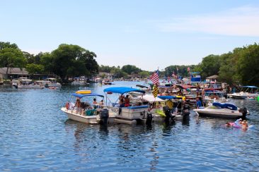
<path id="1" fill-rule="evenodd" d="M 19 78 L 17 83 L 13 83 L 13 87 L 16 88 L 32 88 L 32 89 L 42 89 L 45 88 L 44 85 L 38 82 L 33 82 L 33 80 L 29 80 L 27 78 Z"/>

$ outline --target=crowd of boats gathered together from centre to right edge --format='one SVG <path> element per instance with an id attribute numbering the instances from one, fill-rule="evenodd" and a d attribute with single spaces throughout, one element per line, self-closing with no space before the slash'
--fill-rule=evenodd
<path id="1" fill-rule="evenodd" d="M 247 86 L 249 87 L 251 86 Z M 168 123 L 188 119 L 192 109 L 198 116 L 246 118 L 249 115 L 246 107 L 238 108 L 229 103 L 231 94 L 226 94 L 226 90 L 219 86 L 168 83 L 159 85 L 157 97 L 151 91 L 150 85 L 108 87 L 103 90 L 103 94 L 79 90 L 71 94 L 74 98 L 62 107 L 62 111 L 72 120 L 91 124 Z M 246 95 L 247 99 L 258 97 L 258 91 L 246 92 Z M 100 103 L 96 102 L 97 97 L 101 99 Z"/>

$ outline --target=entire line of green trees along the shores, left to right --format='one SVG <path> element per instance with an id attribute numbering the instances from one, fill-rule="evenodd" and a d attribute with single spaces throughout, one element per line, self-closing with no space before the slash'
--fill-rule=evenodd
<path id="1" fill-rule="evenodd" d="M 210 75 L 219 75 L 219 81 L 230 85 L 259 85 L 259 45 L 251 44 L 236 48 L 226 54 L 211 54 L 197 65 L 171 65 L 159 71 L 160 77 L 180 75 L 188 77 L 189 71 L 200 72 L 202 80 Z M 112 73 L 115 78 L 137 74 L 149 77 L 154 71 L 146 71 L 137 66 L 103 66 L 96 62 L 96 54 L 73 44 L 60 44 L 52 52 L 33 55 L 21 51 L 16 44 L 0 42 L 0 67 L 25 68 L 30 74 L 45 73 L 58 75 L 63 81 L 71 77 L 85 75 L 91 77 L 98 72 Z M 190 70 L 188 70 L 188 68 Z M 7 74 L 7 73 L 6 73 Z"/>

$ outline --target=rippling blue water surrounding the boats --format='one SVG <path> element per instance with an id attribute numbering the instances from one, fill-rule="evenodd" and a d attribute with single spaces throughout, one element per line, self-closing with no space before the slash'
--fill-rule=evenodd
<path id="1" fill-rule="evenodd" d="M 110 85 L 90 89 L 103 93 L 105 87 Z M 195 113 L 171 125 L 102 128 L 67 120 L 60 111 L 76 90 L 0 87 L 0 171 L 259 170 L 259 102 L 234 101 L 251 111 L 248 123 L 255 128 L 247 131 Z"/>

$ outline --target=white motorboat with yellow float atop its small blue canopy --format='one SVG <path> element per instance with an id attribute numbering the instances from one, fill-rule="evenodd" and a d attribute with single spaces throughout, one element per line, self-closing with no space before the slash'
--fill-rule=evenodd
<path id="1" fill-rule="evenodd" d="M 91 90 L 80 90 L 73 93 L 72 96 L 79 101 L 80 107 L 76 107 L 72 102 L 67 102 L 66 106 L 62 107 L 61 110 L 67 114 L 69 119 L 89 124 L 113 123 L 115 116 L 109 114 L 105 106 L 91 105 L 88 102 L 81 101 L 83 97 L 101 97 L 103 99 L 103 95 L 92 93 Z"/>

